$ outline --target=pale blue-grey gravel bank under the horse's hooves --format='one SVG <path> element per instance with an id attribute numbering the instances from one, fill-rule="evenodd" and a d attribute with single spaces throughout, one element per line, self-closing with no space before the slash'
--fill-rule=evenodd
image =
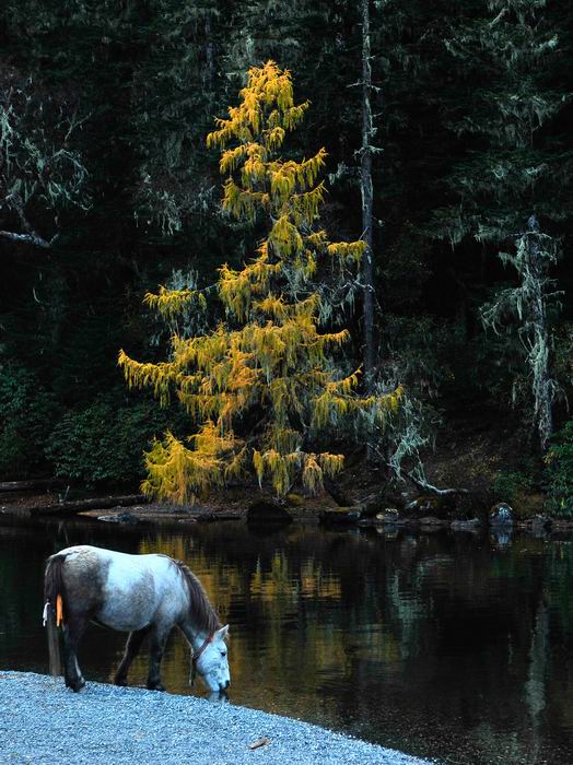
<path id="1" fill-rule="evenodd" d="M 255 742 L 267 741 L 257 749 Z M 232 704 L 0 672 L 0 763 L 423 765 L 358 739 Z"/>

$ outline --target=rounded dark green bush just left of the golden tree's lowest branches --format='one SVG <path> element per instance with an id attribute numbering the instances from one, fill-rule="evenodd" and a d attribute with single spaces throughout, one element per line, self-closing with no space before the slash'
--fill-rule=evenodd
<path id="1" fill-rule="evenodd" d="M 141 451 L 163 431 L 167 414 L 149 401 L 118 405 L 112 397 L 68 412 L 46 448 L 55 474 L 93 486 L 143 475 Z"/>

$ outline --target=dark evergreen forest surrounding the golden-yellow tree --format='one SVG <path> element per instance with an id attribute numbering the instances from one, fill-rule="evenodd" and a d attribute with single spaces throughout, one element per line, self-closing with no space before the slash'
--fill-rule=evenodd
<path id="1" fill-rule="evenodd" d="M 572 31 L 570 0 L 4 0 L 0 476 L 135 483 L 153 436 L 192 431 L 118 352 L 160 362 L 221 320 L 209 289 L 175 329 L 143 297 L 253 257 L 265 224 L 224 213 L 206 137 L 271 59 L 311 102 L 285 155 L 328 153 L 329 236 L 370 236 L 332 363 L 404 391 L 369 448 L 352 424 L 321 439 L 573 511 Z"/>

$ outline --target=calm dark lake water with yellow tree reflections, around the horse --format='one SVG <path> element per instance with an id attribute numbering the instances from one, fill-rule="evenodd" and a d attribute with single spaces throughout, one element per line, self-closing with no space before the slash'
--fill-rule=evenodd
<path id="1" fill-rule="evenodd" d="M 186 561 L 231 624 L 232 703 L 460 765 L 572 765 L 573 544 L 531 537 L 0 527 L 0 668 L 47 671 L 44 561 L 90 543 Z M 91 626 L 87 681 L 125 636 Z M 143 684 L 145 656 L 133 664 Z M 168 691 L 191 693 L 173 635 Z M 203 693 L 202 691 L 195 691 Z M 192 725 L 192 720 L 190 720 Z M 261 731 L 264 734 L 264 731 Z"/>

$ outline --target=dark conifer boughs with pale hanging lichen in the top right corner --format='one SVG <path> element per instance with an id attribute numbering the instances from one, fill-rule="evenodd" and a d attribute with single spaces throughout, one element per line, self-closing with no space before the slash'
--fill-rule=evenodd
<path id="1" fill-rule="evenodd" d="M 569 94 L 552 86 L 563 43 L 546 0 L 470 4 L 444 43 L 465 83 L 449 127 L 469 151 L 446 181 L 456 202 L 436 215 L 443 234 L 499 246 L 531 214 L 561 220 L 573 168 L 547 129 Z"/>

